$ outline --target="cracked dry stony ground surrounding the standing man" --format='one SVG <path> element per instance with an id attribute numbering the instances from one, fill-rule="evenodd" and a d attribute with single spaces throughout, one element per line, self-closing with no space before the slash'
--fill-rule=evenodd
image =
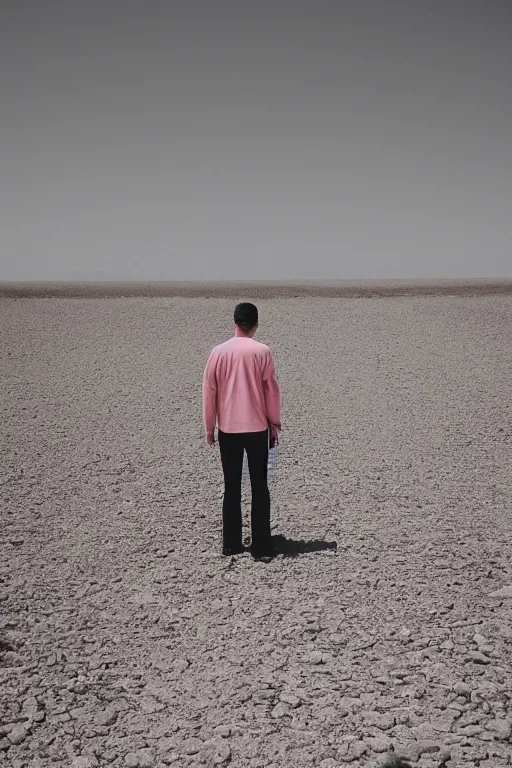
<path id="1" fill-rule="evenodd" d="M 0 765 L 510 765 L 512 297 L 256 302 L 270 563 L 202 428 L 234 303 L 0 303 Z"/>

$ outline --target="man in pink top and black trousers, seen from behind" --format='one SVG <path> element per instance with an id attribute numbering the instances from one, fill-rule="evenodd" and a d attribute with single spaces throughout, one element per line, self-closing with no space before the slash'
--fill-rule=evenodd
<path id="1" fill-rule="evenodd" d="M 222 505 L 224 555 L 240 554 L 242 544 L 242 465 L 244 449 L 251 477 L 251 554 L 272 555 L 270 494 L 267 484 L 269 445 L 278 445 L 281 395 L 274 361 L 266 344 L 253 339 L 258 328 L 254 304 L 238 304 L 235 335 L 214 347 L 203 377 L 206 439 L 219 447 L 224 472 Z"/>

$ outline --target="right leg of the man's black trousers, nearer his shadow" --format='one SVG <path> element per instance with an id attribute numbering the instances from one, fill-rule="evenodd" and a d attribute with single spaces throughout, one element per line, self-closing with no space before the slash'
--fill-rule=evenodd
<path id="1" fill-rule="evenodd" d="M 251 549 L 265 554 L 271 550 L 270 493 L 267 483 L 268 429 L 246 435 L 245 447 L 251 476 Z"/>

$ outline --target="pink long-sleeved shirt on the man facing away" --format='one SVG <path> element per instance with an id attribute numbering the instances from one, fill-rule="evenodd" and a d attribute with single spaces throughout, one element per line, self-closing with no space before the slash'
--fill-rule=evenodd
<path id="1" fill-rule="evenodd" d="M 281 429 L 281 394 L 266 344 L 233 336 L 210 352 L 203 377 L 207 433 L 263 432 L 269 422 Z"/>

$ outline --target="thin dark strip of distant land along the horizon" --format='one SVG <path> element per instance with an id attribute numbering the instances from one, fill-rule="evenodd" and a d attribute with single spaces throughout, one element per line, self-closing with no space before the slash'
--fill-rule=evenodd
<path id="1" fill-rule="evenodd" d="M 302 280 L 246 282 L 0 282 L 0 298 L 380 298 L 512 294 L 503 280 Z"/>

